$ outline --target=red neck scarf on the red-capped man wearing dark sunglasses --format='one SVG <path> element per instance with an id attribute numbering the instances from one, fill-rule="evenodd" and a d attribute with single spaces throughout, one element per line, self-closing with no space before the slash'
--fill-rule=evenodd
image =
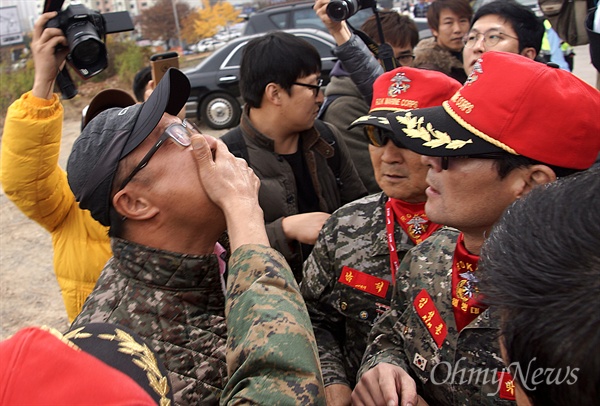
<path id="1" fill-rule="evenodd" d="M 390 264 L 392 267 L 392 281 L 395 283 L 396 271 L 400 266 L 400 261 L 396 250 L 394 222 L 398 222 L 415 245 L 425 240 L 441 226 L 431 222 L 427 218 L 425 203 L 407 203 L 391 197 L 385 203 L 385 220 L 388 247 L 390 250 Z"/>

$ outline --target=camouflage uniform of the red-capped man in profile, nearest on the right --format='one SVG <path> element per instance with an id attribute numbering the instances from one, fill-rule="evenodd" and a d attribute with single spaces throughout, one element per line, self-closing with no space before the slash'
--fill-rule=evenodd
<path id="1" fill-rule="evenodd" d="M 499 315 L 487 309 L 460 333 L 456 331 L 451 288 L 458 235 L 457 230 L 444 227 L 406 254 L 398 270 L 392 308 L 373 326 L 359 378 L 386 362 L 406 370 L 429 404 L 514 405 L 499 397 L 496 372 L 503 371 Z M 441 348 L 413 305 L 422 289 L 447 325 Z"/>

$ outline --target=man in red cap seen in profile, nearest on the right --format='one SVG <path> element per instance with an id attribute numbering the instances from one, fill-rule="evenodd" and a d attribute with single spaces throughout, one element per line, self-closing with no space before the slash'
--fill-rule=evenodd
<path id="1" fill-rule="evenodd" d="M 449 227 L 402 260 L 391 309 L 369 336 L 354 404 L 416 404 L 417 394 L 428 404 L 514 404 L 500 314 L 479 289 L 480 249 L 513 201 L 594 163 L 598 111 L 600 93 L 571 73 L 491 51 L 442 106 L 387 116 L 428 166 L 425 212 Z"/>

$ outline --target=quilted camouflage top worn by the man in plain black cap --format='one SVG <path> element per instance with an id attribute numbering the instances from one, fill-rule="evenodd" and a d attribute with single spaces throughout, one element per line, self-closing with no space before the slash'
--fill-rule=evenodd
<path id="1" fill-rule="evenodd" d="M 179 405 L 217 404 L 227 379 L 225 297 L 215 255 L 121 239 L 71 329 L 93 322 L 138 333 L 163 360 Z"/>

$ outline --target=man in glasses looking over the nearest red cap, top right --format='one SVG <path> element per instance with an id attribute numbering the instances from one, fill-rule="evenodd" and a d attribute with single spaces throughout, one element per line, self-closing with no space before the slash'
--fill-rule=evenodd
<path id="1" fill-rule="evenodd" d="M 463 62 L 467 75 L 487 51 L 512 52 L 536 59 L 542 46 L 544 24 L 530 8 L 514 0 L 496 0 L 481 6 L 464 37 Z"/>

